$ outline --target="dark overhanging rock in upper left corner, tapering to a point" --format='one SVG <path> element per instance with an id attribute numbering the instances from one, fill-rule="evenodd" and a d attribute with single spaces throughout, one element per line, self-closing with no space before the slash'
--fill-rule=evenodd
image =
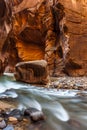
<path id="1" fill-rule="evenodd" d="M 11 30 L 11 12 L 9 2 L 0 0 L 0 51 Z"/>

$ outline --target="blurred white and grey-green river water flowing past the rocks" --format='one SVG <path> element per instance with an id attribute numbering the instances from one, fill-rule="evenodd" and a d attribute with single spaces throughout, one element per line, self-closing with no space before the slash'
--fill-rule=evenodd
<path id="1" fill-rule="evenodd" d="M 8 74 L 0 77 L 0 98 L 13 98 L 19 109 L 42 110 L 46 121 L 41 130 L 87 130 L 87 92 L 20 83 Z"/>

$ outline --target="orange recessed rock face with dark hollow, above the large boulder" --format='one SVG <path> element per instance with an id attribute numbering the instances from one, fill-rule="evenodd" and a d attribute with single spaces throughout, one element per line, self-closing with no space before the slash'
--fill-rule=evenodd
<path id="1" fill-rule="evenodd" d="M 41 11 L 41 8 L 40 8 Z M 44 59 L 46 27 L 41 23 L 40 13 L 31 14 L 28 10 L 15 14 L 13 32 L 16 37 L 18 56 L 22 61 Z M 40 18 L 41 17 L 41 18 Z M 45 29 L 45 30 L 44 30 Z"/>

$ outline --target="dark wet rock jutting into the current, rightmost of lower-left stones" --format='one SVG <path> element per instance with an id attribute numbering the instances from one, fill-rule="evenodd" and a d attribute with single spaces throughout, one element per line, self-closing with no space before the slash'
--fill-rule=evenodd
<path id="1" fill-rule="evenodd" d="M 25 116 L 29 116 L 33 122 L 40 120 L 45 120 L 45 116 L 42 111 L 37 110 L 36 108 L 28 108 L 24 112 Z"/>

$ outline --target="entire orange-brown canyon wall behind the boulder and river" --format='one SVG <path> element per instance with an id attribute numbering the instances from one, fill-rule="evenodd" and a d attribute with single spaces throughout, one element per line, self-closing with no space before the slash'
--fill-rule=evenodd
<path id="1" fill-rule="evenodd" d="M 85 0 L 3 1 L 0 33 L 4 27 L 5 35 L 0 41 L 1 58 L 10 68 L 18 62 L 43 59 L 50 76 L 87 74 Z"/>

